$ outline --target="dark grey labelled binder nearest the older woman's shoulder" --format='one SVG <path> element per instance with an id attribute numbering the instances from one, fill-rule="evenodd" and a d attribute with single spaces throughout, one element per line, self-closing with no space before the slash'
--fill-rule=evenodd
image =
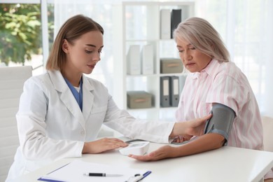
<path id="1" fill-rule="evenodd" d="M 179 77 L 178 76 L 170 76 L 170 84 L 169 84 L 169 100 L 170 105 L 173 107 L 179 106 Z"/>

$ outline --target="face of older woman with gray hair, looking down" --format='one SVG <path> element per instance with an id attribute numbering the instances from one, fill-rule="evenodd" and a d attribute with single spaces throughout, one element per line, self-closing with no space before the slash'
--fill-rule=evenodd
<path id="1" fill-rule="evenodd" d="M 177 38 L 176 47 L 179 50 L 179 56 L 185 68 L 191 73 L 202 71 L 211 62 L 209 55 L 197 50 L 187 41 Z"/>

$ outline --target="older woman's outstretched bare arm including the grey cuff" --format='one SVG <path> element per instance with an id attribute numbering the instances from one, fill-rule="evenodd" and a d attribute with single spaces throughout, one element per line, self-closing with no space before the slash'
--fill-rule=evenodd
<path id="1" fill-rule="evenodd" d="M 129 157 L 142 161 L 161 160 L 221 148 L 228 140 L 235 112 L 222 104 L 214 104 L 211 112 L 213 116 L 207 123 L 205 134 L 201 137 L 181 146 L 162 146 L 148 155 L 129 155 Z"/>

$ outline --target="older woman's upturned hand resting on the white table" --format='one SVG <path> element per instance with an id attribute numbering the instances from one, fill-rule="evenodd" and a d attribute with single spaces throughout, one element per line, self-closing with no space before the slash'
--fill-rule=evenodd
<path id="1" fill-rule="evenodd" d="M 141 161 L 155 161 L 162 160 L 165 158 L 176 158 L 176 148 L 172 146 L 162 146 L 158 150 L 148 153 L 147 155 L 128 155 L 130 158 Z"/>

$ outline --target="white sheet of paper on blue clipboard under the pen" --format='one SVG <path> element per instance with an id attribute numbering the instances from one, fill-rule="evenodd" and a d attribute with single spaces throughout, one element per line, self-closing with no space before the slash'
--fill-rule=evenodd
<path id="1" fill-rule="evenodd" d="M 100 176 L 85 176 L 85 173 L 106 173 L 106 174 L 122 174 L 119 177 L 100 177 Z M 92 162 L 84 162 L 74 160 L 73 162 L 56 169 L 55 171 L 42 176 L 40 181 L 69 181 L 69 182 L 85 182 L 85 181 L 128 181 L 135 174 L 144 174 L 145 169 L 130 169 L 119 167 L 118 165 L 102 165 Z"/>

